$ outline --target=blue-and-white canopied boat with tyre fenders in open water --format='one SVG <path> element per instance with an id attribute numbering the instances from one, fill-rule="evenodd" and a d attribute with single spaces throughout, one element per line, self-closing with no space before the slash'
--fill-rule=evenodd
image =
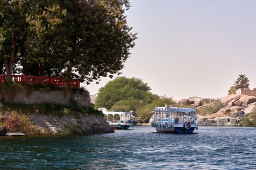
<path id="1" fill-rule="evenodd" d="M 156 132 L 189 134 L 198 130 L 195 123 L 195 109 L 177 107 L 155 107 L 151 126 Z"/>

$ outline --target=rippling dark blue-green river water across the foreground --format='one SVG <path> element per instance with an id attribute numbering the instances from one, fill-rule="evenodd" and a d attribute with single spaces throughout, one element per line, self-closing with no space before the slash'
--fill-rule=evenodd
<path id="1" fill-rule="evenodd" d="M 134 126 L 111 134 L 0 137 L 0 170 L 43 169 L 254 170 L 256 128 L 161 134 Z"/>

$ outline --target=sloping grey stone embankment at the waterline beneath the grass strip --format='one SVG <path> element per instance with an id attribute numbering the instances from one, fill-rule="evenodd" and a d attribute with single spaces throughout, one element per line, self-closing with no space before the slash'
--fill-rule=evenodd
<path id="1" fill-rule="evenodd" d="M 114 131 L 100 115 L 82 114 L 63 116 L 27 115 L 38 128 L 38 134 L 99 134 L 113 133 Z M 0 127 L 0 135 L 5 135 Z"/>

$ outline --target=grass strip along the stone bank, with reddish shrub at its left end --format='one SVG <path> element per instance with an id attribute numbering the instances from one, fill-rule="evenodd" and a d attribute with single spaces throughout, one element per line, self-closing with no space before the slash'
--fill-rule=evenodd
<path id="1" fill-rule="evenodd" d="M 39 135 L 38 129 L 30 121 L 27 114 L 51 115 L 57 117 L 69 115 L 101 115 L 101 111 L 97 111 L 92 107 L 78 105 L 76 102 L 70 104 L 17 104 L 0 105 L 0 126 L 7 132 L 21 132 L 25 135 Z M 71 129 L 75 129 L 72 127 Z M 77 129 L 77 128 L 76 128 Z M 73 132 L 72 132 L 73 133 Z M 46 133 L 47 134 L 47 133 Z"/>

